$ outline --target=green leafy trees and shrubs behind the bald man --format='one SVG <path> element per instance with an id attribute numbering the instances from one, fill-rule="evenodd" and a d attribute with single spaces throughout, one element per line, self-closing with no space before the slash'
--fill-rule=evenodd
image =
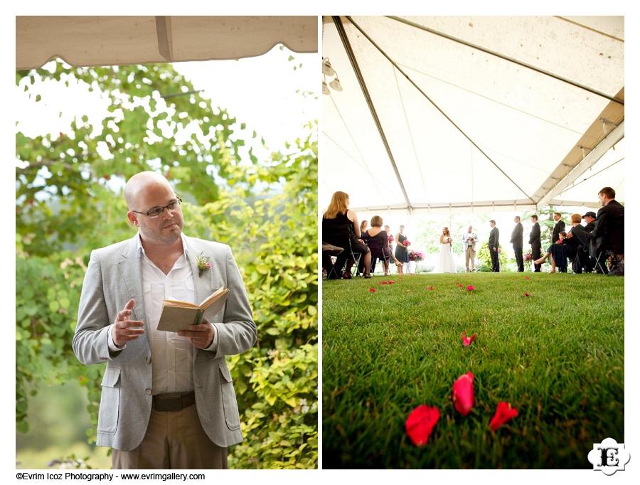
<path id="1" fill-rule="evenodd" d="M 28 431 L 28 393 L 74 379 L 87 390 L 95 441 L 103 366 L 81 366 L 70 347 L 82 277 L 90 250 L 134 234 L 124 180 L 155 170 L 183 197 L 185 233 L 232 247 L 258 326 L 255 348 L 229 358 L 245 433 L 230 466 L 316 467 L 315 125 L 291 153 L 258 160 L 249 150 L 247 163 L 244 142 L 232 136 L 235 119 L 171 65 L 58 63 L 53 73 L 17 75 L 34 99 L 44 80 L 85 85 L 110 105 L 97 127 L 81 116 L 57 137 L 16 135 L 18 430 Z M 196 134 L 178 144 L 187 124 Z"/>

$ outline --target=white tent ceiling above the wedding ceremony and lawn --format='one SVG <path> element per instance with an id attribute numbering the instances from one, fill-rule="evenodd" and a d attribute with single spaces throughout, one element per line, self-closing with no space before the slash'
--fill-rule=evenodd
<path id="1" fill-rule="evenodd" d="M 323 55 L 329 58 L 343 90 L 330 89 L 330 95 L 322 96 L 325 176 L 319 187 L 321 204 L 329 203 L 331 193 L 341 190 L 349 193 L 353 208 L 362 210 L 535 208 L 580 164 L 583 151 L 579 147 L 586 146 L 588 153 L 604 139 L 607 132 L 603 132 L 601 117 L 607 120 L 609 131 L 624 120 L 622 17 L 406 19 L 609 97 L 619 95 L 622 102 L 395 18 L 354 16 L 349 21 L 341 17 L 407 191 L 407 207 L 336 26 L 325 18 Z M 623 165 L 617 164 L 616 170 Z M 594 178 L 600 188 L 613 183 L 606 182 L 607 171 Z M 589 185 L 581 183 L 571 194 L 566 189 L 550 203 L 570 201 L 574 196 L 597 203 L 597 191 L 588 196 L 582 193 Z"/>

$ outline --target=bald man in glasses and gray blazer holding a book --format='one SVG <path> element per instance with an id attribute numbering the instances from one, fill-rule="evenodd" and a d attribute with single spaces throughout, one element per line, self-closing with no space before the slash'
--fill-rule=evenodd
<path id="1" fill-rule="evenodd" d="M 226 468 L 242 433 L 225 356 L 257 339 L 240 272 L 230 247 L 182 233 L 163 176 L 134 175 L 124 197 L 138 233 L 91 252 L 73 337 L 80 362 L 107 364 L 97 444 L 112 447 L 114 469 Z M 157 329 L 163 299 L 199 304 L 223 286 L 225 306 L 201 324 Z"/>

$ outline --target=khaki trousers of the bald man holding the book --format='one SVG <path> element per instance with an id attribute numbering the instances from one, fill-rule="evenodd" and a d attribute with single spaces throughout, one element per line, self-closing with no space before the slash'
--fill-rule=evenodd
<path id="1" fill-rule="evenodd" d="M 113 449 L 111 462 L 114 469 L 226 469 L 227 449 L 211 442 L 193 404 L 181 411 L 151 410 L 139 447 Z"/>

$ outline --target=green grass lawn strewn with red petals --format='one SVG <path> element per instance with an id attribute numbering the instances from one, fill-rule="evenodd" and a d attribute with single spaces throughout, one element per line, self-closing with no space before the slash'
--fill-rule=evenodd
<path id="1" fill-rule="evenodd" d="M 323 283 L 324 468 L 586 469 L 594 442 L 624 442 L 624 278 L 386 279 Z M 478 334 L 468 348 L 462 331 Z M 467 371 L 476 404 L 463 417 L 450 394 Z M 519 415 L 494 433 L 501 400 Z M 440 411 L 422 448 L 405 433 L 420 404 Z"/>

